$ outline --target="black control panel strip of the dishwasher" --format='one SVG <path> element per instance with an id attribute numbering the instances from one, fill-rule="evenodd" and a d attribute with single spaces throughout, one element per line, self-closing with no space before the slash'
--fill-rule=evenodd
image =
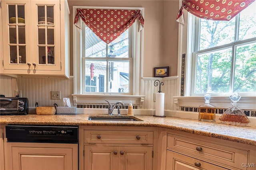
<path id="1" fill-rule="evenodd" d="M 7 142 L 78 143 L 78 126 L 6 125 Z"/>

